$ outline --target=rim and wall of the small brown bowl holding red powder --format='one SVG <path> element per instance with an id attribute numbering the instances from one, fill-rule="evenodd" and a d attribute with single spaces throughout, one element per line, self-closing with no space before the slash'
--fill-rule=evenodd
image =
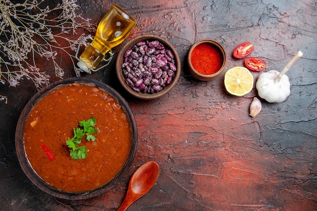
<path id="1" fill-rule="evenodd" d="M 213 74 L 210 74 L 210 75 L 205 75 L 205 74 L 202 74 L 202 73 L 198 72 L 197 70 L 195 70 L 195 68 L 191 64 L 190 57 L 191 57 L 191 53 L 192 53 L 193 49 L 196 48 L 196 46 L 198 46 L 198 45 L 200 45 L 202 43 L 209 43 L 209 44 L 212 44 L 212 45 L 216 46 L 221 51 L 222 56 L 223 56 L 223 63 L 222 63 L 221 68 L 217 72 L 215 72 Z M 187 64 L 188 64 L 189 68 L 191 69 L 191 71 L 194 74 L 196 74 L 196 75 L 193 75 L 194 77 L 196 77 L 197 79 L 201 78 L 201 79 L 211 80 L 211 79 L 216 78 L 217 76 L 219 76 L 223 72 L 223 70 L 224 70 L 224 68 L 225 68 L 225 66 L 227 64 L 227 54 L 226 54 L 226 51 L 225 51 L 224 47 L 218 41 L 216 41 L 214 39 L 201 39 L 201 40 L 197 41 L 196 43 L 194 43 L 190 47 L 190 49 L 189 49 L 189 51 L 187 53 Z"/>

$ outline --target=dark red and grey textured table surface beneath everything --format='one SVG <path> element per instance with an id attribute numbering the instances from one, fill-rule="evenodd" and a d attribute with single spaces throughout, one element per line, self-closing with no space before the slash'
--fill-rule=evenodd
<path id="1" fill-rule="evenodd" d="M 128 210 L 317 210 L 317 2 L 83 0 L 79 12 L 98 23 L 115 3 L 138 21 L 128 39 L 162 36 L 182 62 L 175 88 L 150 101 L 122 89 L 115 59 L 99 72 L 82 74 L 107 83 L 129 102 L 139 132 L 133 165 L 119 184 L 91 199 L 64 200 L 39 190 L 20 167 L 14 138 L 19 115 L 37 90 L 26 79 L 16 88 L 1 85 L 8 103 L 0 102 L 0 210 L 116 210 L 133 172 L 150 160 L 160 165 L 159 179 Z M 224 72 L 209 82 L 191 77 L 185 56 L 203 38 L 224 46 L 226 70 L 243 66 L 232 52 L 244 41 L 253 43 L 252 56 L 266 61 L 265 71 L 281 71 L 302 51 L 287 73 L 288 100 L 262 100 L 262 111 L 252 118 L 255 88 L 234 97 L 224 88 Z M 119 50 L 113 49 L 115 56 Z M 65 68 L 69 76 L 75 73 Z"/>

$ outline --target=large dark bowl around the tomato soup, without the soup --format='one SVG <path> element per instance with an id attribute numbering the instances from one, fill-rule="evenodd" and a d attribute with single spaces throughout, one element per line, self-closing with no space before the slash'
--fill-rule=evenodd
<path id="1" fill-rule="evenodd" d="M 98 88 L 101 88 L 102 90 L 105 90 L 108 94 L 110 94 L 113 98 L 115 98 L 120 105 L 125 110 L 128 120 L 130 122 L 130 131 L 131 131 L 131 148 L 128 155 L 128 158 L 126 159 L 126 162 L 123 164 L 123 167 L 121 170 L 112 178 L 109 182 L 104 184 L 103 186 L 91 190 L 91 191 L 85 191 L 85 192 L 65 192 L 57 190 L 56 188 L 52 187 L 48 183 L 46 183 L 44 180 L 42 180 L 33 170 L 24 148 L 24 135 L 23 135 L 23 129 L 25 125 L 25 121 L 27 119 L 27 116 L 29 112 L 32 110 L 33 105 L 35 105 L 37 102 L 39 102 L 47 93 L 49 93 L 52 89 L 56 88 L 57 86 L 64 86 L 68 85 L 69 83 L 89 83 L 90 86 L 96 86 Z M 85 106 L 85 105 L 84 105 Z M 53 196 L 56 196 L 58 198 L 63 199 L 70 199 L 70 200 L 78 200 L 78 199 L 87 199 L 92 198 L 97 195 L 100 195 L 102 193 L 105 193 L 107 190 L 112 188 L 115 184 L 120 182 L 122 177 L 126 174 L 129 167 L 132 164 L 136 148 L 137 148 L 137 140 L 138 140 L 138 134 L 137 134 L 137 124 L 134 119 L 134 115 L 128 105 L 128 103 L 125 101 L 125 99 L 118 94 L 114 89 L 110 88 L 109 86 L 105 85 L 104 83 L 92 79 L 85 79 L 85 78 L 68 78 L 63 79 L 54 83 L 51 83 L 48 87 L 45 87 L 38 93 L 36 93 L 26 104 L 24 107 L 16 128 L 16 134 L 15 134 L 15 144 L 16 144 L 16 151 L 18 160 L 20 162 L 20 165 L 22 167 L 22 170 L 26 174 L 26 176 L 31 180 L 31 182 L 37 186 L 39 189 L 47 192 L 48 194 L 51 194 Z M 52 170 L 54 171 L 54 170 Z"/>

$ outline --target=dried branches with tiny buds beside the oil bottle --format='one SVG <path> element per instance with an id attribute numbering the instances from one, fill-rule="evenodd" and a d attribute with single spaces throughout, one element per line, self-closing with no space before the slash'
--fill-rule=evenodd
<path id="1" fill-rule="evenodd" d="M 68 56 L 77 76 L 81 69 L 74 58 L 78 43 L 85 37 L 78 31 L 95 31 L 89 19 L 77 15 L 80 7 L 75 0 L 13 0 L 0 1 L 0 82 L 10 87 L 19 85 L 19 80 L 32 80 L 39 90 L 49 84 L 50 76 L 40 70 L 36 58 L 45 58 L 53 64 L 55 75 L 62 78 L 63 68 L 58 58 Z M 55 4 L 55 5 L 53 5 Z M 50 5 L 50 6 L 48 6 Z M 58 57 L 59 56 L 59 57 Z M 0 101 L 6 100 L 0 95 Z"/>

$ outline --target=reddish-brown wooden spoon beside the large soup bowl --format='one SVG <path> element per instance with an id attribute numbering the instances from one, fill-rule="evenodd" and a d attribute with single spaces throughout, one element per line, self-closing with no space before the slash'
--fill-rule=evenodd
<path id="1" fill-rule="evenodd" d="M 134 201 L 147 193 L 159 177 L 159 165 L 149 161 L 141 165 L 132 175 L 127 195 L 117 211 L 125 211 Z"/>

